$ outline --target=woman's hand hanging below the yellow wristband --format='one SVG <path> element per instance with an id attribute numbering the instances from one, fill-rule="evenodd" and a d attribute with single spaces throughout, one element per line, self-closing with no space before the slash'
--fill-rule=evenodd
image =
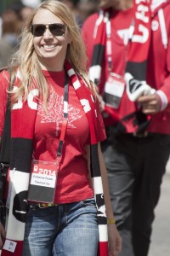
<path id="1" fill-rule="evenodd" d="M 117 256 L 122 250 L 122 238 L 116 224 L 108 224 L 109 256 Z"/>

